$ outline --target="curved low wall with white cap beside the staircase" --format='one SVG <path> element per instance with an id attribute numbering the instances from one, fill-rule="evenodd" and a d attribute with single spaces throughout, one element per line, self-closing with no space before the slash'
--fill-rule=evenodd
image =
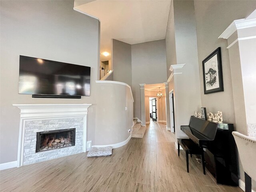
<path id="1" fill-rule="evenodd" d="M 126 144 L 133 125 L 133 98 L 130 86 L 122 82 L 96 81 L 96 123 L 93 145 Z M 127 107 L 127 110 L 125 108 Z M 90 118 L 90 117 L 88 117 Z M 118 144 L 121 143 L 122 144 Z"/>

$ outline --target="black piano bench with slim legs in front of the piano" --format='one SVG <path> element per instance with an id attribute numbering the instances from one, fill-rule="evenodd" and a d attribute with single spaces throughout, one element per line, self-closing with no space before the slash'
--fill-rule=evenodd
<path id="1" fill-rule="evenodd" d="M 191 139 L 177 139 L 178 140 L 178 156 L 180 156 L 180 146 L 186 151 L 186 162 L 187 162 L 187 172 L 189 172 L 188 166 L 188 154 L 192 157 L 194 155 L 201 155 L 203 171 L 205 174 L 205 162 L 204 162 L 204 150 L 195 144 Z"/>

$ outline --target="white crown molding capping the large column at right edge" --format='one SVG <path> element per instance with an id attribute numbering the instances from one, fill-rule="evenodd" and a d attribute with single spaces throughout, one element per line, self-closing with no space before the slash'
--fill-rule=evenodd
<path id="1" fill-rule="evenodd" d="M 248 19 L 248 20 L 246 19 L 234 20 L 218 38 L 228 39 L 238 29 L 244 29 L 244 28 L 255 27 L 255 26 L 256 26 L 256 18 Z"/>

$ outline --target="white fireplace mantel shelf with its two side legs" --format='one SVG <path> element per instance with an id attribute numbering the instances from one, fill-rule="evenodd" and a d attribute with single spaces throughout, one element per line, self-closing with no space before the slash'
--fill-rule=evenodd
<path id="1" fill-rule="evenodd" d="M 52 120 L 62 118 L 83 118 L 83 146 L 86 152 L 87 112 L 92 104 L 13 104 L 20 109 L 20 128 L 17 166 L 24 162 L 24 138 L 27 121 Z"/>

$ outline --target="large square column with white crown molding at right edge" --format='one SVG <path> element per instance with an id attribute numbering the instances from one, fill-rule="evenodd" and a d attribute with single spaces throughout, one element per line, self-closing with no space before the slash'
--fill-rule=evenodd
<path id="1" fill-rule="evenodd" d="M 236 130 L 256 136 L 256 10 L 219 36 L 228 40 Z"/>

